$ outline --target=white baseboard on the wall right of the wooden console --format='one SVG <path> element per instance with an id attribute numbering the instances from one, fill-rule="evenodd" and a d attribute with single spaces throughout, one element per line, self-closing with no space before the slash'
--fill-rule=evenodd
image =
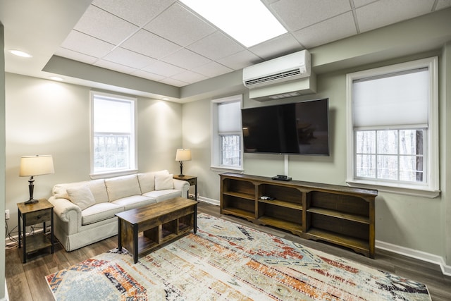
<path id="1" fill-rule="evenodd" d="M 438 266 L 440 266 L 440 269 L 442 270 L 443 275 L 451 276 L 451 266 L 448 266 L 445 263 L 445 259 L 443 259 L 443 257 L 440 257 L 438 255 L 409 249 L 408 247 L 401 247 L 400 245 L 393 245 L 391 243 L 383 242 L 381 240 L 376 240 L 376 248 L 390 251 L 396 254 L 401 254 L 407 257 L 419 259 L 423 262 L 438 264 Z"/>

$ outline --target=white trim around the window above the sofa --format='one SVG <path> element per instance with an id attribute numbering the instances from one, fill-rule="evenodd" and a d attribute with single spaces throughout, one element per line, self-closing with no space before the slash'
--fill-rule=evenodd
<path id="1" fill-rule="evenodd" d="M 132 135 L 133 138 L 133 152 L 135 153 L 135 160 L 134 160 L 134 166 L 130 169 L 125 169 L 121 171 L 108 171 L 108 172 L 102 172 L 102 173 L 94 173 L 94 114 L 92 113 L 94 111 L 94 95 L 100 95 L 103 97 L 109 97 L 113 99 L 123 99 L 130 102 L 133 102 L 133 109 L 134 109 L 134 126 L 133 130 L 134 133 Z M 92 179 L 98 179 L 98 178 L 109 178 L 113 176 L 125 176 L 130 175 L 133 173 L 137 173 L 138 171 L 138 155 L 137 155 L 137 99 L 135 97 L 126 97 L 119 94 L 111 94 L 111 93 L 105 93 L 105 92 L 97 92 L 97 91 L 89 91 L 89 102 L 90 102 L 90 110 L 89 110 L 89 161 L 90 161 L 90 173 L 89 177 Z"/>

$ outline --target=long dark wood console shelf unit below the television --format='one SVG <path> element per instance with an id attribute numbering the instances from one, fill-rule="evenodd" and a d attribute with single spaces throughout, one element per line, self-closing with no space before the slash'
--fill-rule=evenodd
<path id="1" fill-rule="evenodd" d="M 377 195 L 371 189 L 221 174 L 221 214 L 348 247 L 371 258 Z"/>

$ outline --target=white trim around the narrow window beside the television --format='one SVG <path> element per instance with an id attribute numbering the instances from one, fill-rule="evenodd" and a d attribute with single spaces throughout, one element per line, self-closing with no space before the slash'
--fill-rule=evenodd
<path id="1" fill-rule="evenodd" d="M 219 141 L 219 135 L 218 135 L 218 104 L 224 103 L 224 102 L 240 102 L 240 106 L 242 107 L 242 94 L 233 95 L 229 97 L 223 97 L 219 99 L 212 99 L 210 110 L 211 110 L 211 149 L 210 149 L 210 169 L 212 171 L 219 171 L 219 172 L 227 172 L 227 171 L 233 171 L 233 172 L 243 172 L 244 171 L 244 162 L 243 162 L 243 147 L 242 147 L 242 134 L 240 133 L 240 156 L 241 156 L 241 166 L 240 167 L 233 167 L 233 166 L 222 166 L 219 164 L 220 162 L 220 141 Z M 240 125 L 240 128 L 242 126 Z"/>

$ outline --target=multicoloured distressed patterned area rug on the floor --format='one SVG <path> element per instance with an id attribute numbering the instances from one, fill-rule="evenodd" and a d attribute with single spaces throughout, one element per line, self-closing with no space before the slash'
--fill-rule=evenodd
<path id="1" fill-rule="evenodd" d="M 197 218 L 133 264 L 111 250 L 46 276 L 56 300 L 431 300 L 426 285 L 273 235 Z"/>

